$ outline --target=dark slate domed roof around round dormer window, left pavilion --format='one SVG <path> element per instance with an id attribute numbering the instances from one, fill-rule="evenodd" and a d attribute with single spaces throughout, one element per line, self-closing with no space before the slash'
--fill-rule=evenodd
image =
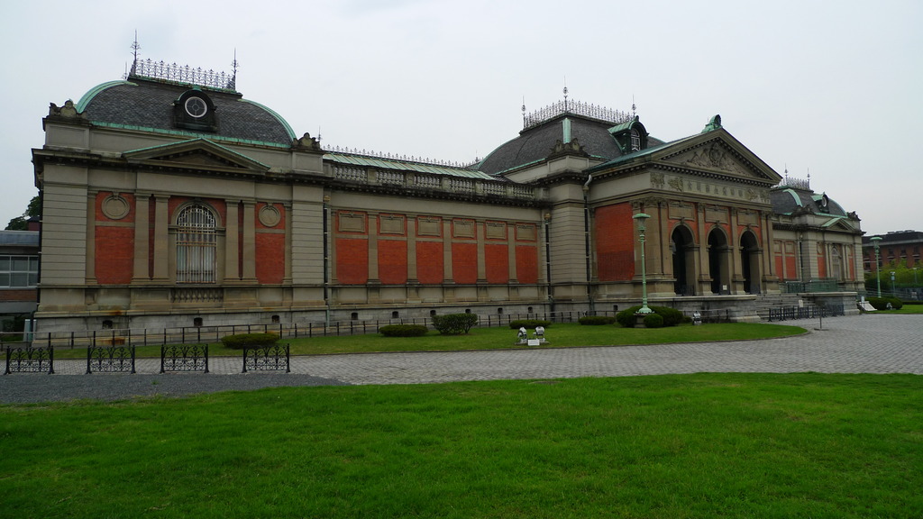
<path id="1" fill-rule="evenodd" d="M 175 106 L 187 92 L 210 102 L 214 125 L 208 131 L 190 131 L 177 125 Z M 209 139 L 232 139 L 291 146 L 294 131 L 269 108 L 243 99 L 235 91 L 132 76 L 126 81 L 103 83 L 87 92 L 77 110 L 96 125 L 140 130 L 190 133 Z"/>

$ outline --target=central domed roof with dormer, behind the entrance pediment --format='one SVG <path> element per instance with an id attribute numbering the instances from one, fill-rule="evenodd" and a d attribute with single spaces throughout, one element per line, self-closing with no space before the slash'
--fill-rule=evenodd
<path id="1" fill-rule="evenodd" d="M 551 116 L 534 126 L 526 127 L 519 137 L 500 145 L 478 163 L 476 169 L 498 175 L 525 164 L 545 160 L 558 142 L 570 142 L 573 139 L 577 139 L 583 151 L 592 157 L 608 161 L 631 152 L 628 136 L 632 131 L 640 133 L 645 144 L 642 149 L 663 144 L 659 139 L 648 137 L 637 116 L 631 118 L 615 111 L 609 113 L 619 115 L 620 119 L 605 120 L 570 110 Z"/>

